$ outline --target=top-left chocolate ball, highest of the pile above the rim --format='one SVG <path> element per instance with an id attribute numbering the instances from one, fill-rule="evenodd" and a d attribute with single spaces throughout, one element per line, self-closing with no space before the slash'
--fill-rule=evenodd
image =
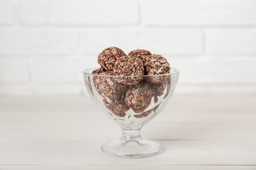
<path id="1" fill-rule="evenodd" d="M 112 71 L 115 65 L 116 59 L 125 56 L 125 52 L 116 46 L 110 46 L 104 49 L 100 54 L 98 54 L 98 63 L 106 69 L 106 71 Z"/>

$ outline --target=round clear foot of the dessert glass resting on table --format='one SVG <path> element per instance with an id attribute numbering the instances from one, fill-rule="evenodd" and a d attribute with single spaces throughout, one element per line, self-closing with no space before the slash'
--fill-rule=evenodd
<path id="1" fill-rule="evenodd" d="M 147 158 L 160 154 L 163 150 L 161 144 L 146 139 L 117 140 L 104 143 L 102 152 L 119 158 Z"/>

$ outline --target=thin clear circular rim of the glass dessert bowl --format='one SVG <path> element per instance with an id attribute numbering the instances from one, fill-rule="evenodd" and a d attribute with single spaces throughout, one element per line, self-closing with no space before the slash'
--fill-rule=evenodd
<path id="1" fill-rule="evenodd" d="M 107 77 L 121 77 L 121 78 L 125 78 L 125 77 L 137 77 L 137 76 L 119 76 L 119 75 L 97 75 L 97 74 L 92 74 L 92 73 L 88 73 L 90 70 L 93 71 L 95 69 L 99 69 L 99 68 L 91 68 L 91 69 L 84 69 L 82 72 L 83 72 L 83 75 L 89 75 L 89 76 L 107 76 Z M 163 75 L 139 75 L 139 77 L 154 77 L 154 76 L 170 76 L 170 75 L 179 75 L 180 71 L 178 69 L 175 69 L 175 68 L 171 68 L 171 71 L 170 73 L 168 74 L 163 74 Z"/>

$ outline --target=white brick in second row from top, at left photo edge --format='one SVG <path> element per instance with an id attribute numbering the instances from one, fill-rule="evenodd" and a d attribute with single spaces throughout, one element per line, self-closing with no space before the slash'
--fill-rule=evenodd
<path id="1" fill-rule="evenodd" d="M 79 33 L 63 29 L 0 29 L 0 54 L 73 54 Z"/>

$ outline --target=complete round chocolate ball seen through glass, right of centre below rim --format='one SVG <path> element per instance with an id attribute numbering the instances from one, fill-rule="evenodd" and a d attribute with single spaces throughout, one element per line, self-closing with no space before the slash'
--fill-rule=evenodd
<path id="1" fill-rule="evenodd" d="M 139 82 L 131 86 L 125 95 L 125 103 L 135 112 L 143 112 L 153 97 L 153 91 L 145 82 Z"/>

